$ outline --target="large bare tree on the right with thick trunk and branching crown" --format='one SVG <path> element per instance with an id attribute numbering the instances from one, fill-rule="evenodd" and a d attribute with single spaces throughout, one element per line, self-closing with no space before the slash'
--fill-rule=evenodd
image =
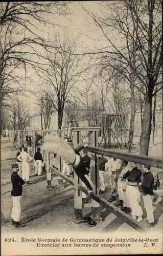
<path id="1" fill-rule="evenodd" d="M 108 2 L 104 4 L 106 4 L 105 10 L 108 8 L 110 13 L 110 4 Z M 148 155 L 152 97 L 162 88 L 162 83 L 158 80 L 162 67 L 161 1 L 120 1 L 113 5 L 111 16 L 108 17 L 106 13 L 104 18 L 96 17 L 88 11 L 87 13 L 102 31 L 109 47 L 113 49 L 105 48 L 99 53 L 106 55 L 110 66 L 111 61 L 118 61 L 126 74 L 130 69 L 136 77 L 134 87 L 144 95 L 140 146 L 141 154 Z M 108 36 L 110 29 L 114 29 L 121 36 L 123 41 L 121 47 Z M 128 50 L 132 58 L 127 54 Z"/>

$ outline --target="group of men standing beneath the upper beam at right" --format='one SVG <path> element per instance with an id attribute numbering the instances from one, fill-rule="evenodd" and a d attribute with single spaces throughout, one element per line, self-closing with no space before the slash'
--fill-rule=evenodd
<path id="1" fill-rule="evenodd" d="M 127 214 L 131 210 L 131 216 L 137 222 L 143 221 L 143 209 L 140 204 L 143 195 L 144 207 L 147 212 L 148 226 L 154 226 L 153 215 L 153 186 L 154 177 L 150 172 L 150 166 L 144 165 L 143 172 L 136 163 L 120 161 L 111 158 L 105 164 L 105 169 L 110 172 L 111 199 L 115 199 L 116 193 L 123 203 L 121 210 Z"/>

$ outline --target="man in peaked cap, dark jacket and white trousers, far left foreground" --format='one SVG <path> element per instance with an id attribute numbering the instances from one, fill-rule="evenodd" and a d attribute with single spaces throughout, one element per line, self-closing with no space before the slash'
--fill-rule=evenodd
<path id="1" fill-rule="evenodd" d="M 12 164 L 12 174 L 11 174 L 11 182 L 12 182 L 12 190 L 11 190 L 11 196 L 12 196 L 12 212 L 11 212 L 11 220 L 12 224 L 15 227 L 19 226 L 20 221 L 20 214 L 21 214 L 21 195 L 22 195 L 22 185 L 24 185 L 26 182 L 20 178 L 18 175 L 18 164 L 14 163 Z"/>

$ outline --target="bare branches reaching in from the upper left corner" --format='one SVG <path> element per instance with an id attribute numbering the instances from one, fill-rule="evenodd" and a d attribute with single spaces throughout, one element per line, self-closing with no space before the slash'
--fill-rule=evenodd
<path id="1" fill-rule="evenodd" d="M 40 68 L 49 43 L 40 36 L 38 24 L 53 25 L 53 15 L 65 15 L 68 2 L 3 2 L 0 10 L 1 106 L 6 96 L 20 91 L 27 66 Z M 37 46 L 37 49 L 36 49 Z M 22 68 L 25 75 L 21 75 Z M 18 70 L 21 72 L 18 73 Z"/>

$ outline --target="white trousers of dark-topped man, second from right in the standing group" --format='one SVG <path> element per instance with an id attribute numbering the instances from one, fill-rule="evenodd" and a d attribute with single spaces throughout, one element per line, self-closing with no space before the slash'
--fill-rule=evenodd
<path id="1" fill-rule="evenodd" d="M 126 194 L 131 205 L 131 215 L 133 217 L 142 217 L 143 210 L 142 207 L 139 205 L 139 202 L 141 200 L 141 193 L 139 192 L 138 187 L 127 185 Z"/>

